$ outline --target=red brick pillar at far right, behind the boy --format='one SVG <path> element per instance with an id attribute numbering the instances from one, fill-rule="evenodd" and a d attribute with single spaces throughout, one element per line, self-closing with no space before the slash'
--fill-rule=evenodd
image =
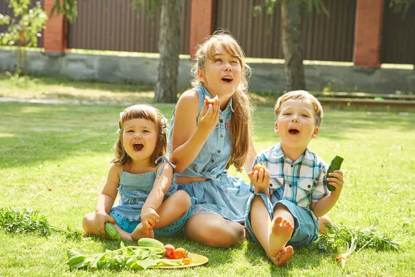
<path id="1" fill-rule="evenodd" d="M 385 0 L 357 0 L 353 62 L 380 67 L 382 19 Z"/>

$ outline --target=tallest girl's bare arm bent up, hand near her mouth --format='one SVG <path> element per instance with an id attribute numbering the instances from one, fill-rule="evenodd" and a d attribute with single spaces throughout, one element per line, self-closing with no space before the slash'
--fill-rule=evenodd
<path id="1" fill-rule="evenodd" d="M 219 120 L 219 103 L 204 105 L 199 114 L 199 96 L 196 91 L 185 91 L 178 99 L 174 118 L 171 159 L 175 163 L 175 170 L 183 172 L 196 159 L 203 144 Z"/>

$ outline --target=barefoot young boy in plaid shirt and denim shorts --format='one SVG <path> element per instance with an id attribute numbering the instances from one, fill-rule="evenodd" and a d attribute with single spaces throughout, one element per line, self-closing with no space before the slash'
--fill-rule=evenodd
<path id="1" fill-rule="evenodd" d="M 335 187 L 329 193 L 323 183 L 327 164 L 307 148 L 317 137 L 322 117 L 320 102 L 307 91 L 279 97 L 274 132 L 280 141 L 255 158 L 254 165 L 266 170 L 248 173 L 254 194 L 248 200 L 246 227 L 278 266 L 293 256 L 293 247 L 318 238 L 318 217 L 333 208 L 342 192 L 342 171 L 327 176 Z"/>

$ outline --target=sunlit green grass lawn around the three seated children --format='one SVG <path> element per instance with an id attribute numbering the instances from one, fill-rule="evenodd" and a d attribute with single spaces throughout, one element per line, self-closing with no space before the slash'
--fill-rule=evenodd
<path id="1" fill-rule="evenodd" d="M 25 84 L 26 82 L 26 84 Z M 134 91 L 143 91 L 135 93 Z M 129 104 L 148 101 L 151 87 L 42 78 L 26 81 L 0 75 L 0 96 L 108 101 L 107 105 L 0 102 L 0 208 L 31 207 L 51 224 L 82 228 L 94 211 L 113 158 L 118 116 Z M 167 118 L 174 105 L 156 105 Z M 273 109 L 255 111 L 257 151 L 277 143 Z M 230 249 L 205 247 L 185 238 L 156 237 L 208 256 L 192 269 L 145 271 L 70 270 L 66 249 L 97 253 L 119 242 L 101 238 L 69 240 L 53 233 L 6 233 L 0 229 L 0 276 L 412 276 L 415 272 L 415 118 L 414 114 L 326 109 L 320 134 L 310 148 L 328 163 L 344 157 L 345 184 L 329 213 L 335 224 L 369 226 L 400 242 L 400 251 L 363 249 L 344 269 L 335 256 L 345 249 L 295 249 L 284 267 L 274 267 L 259 245 L 243 242 Z M 234 170 L 231 170 L 234 173 Z M 238 176 L 248 180 L 245 175 Z M 126 242 L 132 244 L 132 242 Z M 411 273 L 412 272 L 412 273 Z"/>

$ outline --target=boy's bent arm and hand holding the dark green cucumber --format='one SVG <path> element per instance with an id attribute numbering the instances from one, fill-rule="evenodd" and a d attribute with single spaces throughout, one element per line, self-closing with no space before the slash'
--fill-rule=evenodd
<path id="1" fill-rule="evenodd" d="M 343 172 L 342 170 L 335 170 L 334 172 L 330 173 L 329 178 L 327 178 L 329 184 L 335 187 L 329 195 L 322 197 L 317 202 L 311 203 L 311 211 L 317 217 L 321 217 L 333 208 L 340 197 L 340 193 L 342 193 L 343 188 Z"/>

